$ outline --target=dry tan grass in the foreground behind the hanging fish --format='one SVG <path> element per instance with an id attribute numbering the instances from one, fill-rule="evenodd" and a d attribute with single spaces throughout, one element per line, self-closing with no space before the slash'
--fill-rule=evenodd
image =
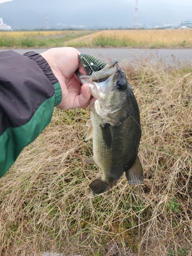
<path id="1" fill-rule="evenodd" d="M 101 173 L 83 163 L 89 111 L 55 110 L 0 180 L 1 255 L 192 255 L 192 68 L 137 60 L 123 69 L 140 107 L 143 184 L 123 176 L 93 195 Z"/>

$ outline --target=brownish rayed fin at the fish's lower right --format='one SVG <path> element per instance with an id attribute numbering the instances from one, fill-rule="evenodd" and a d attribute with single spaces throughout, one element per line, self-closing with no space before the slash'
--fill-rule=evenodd
<path id="1" fill-rule="evenodd" d="M 143 168 L 138 156 L 132 167 L 125 171 L 125 175 L 131 185 L 138 185 L 143 182 Z"/>

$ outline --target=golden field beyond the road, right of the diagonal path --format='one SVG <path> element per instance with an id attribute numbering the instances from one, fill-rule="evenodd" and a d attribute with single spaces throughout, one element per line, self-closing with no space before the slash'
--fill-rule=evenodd
<path id="1" fill-rule="evenodd" d="M 192 30 L 104 30 L 66 42 L 67 46 L 192 47 Z"/>

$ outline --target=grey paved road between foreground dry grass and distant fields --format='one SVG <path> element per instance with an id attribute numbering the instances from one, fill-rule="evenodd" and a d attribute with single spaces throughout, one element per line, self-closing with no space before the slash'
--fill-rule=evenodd
<path id="1" fill-rule="evenodd" d="M 28 51 L 44 52 L 48 49 L 13 49 L 20 54 Z M 108 49 L 108 48 L 78 48 L 81 53 L 88 53 L 101 58 L 104 61 L 117 58 L 118 61 L 127 60 L 128 62 L 137 58 L 145 58 L 146 61 L 156 62 L 162 60 L 168 64 L 174 64 L 175 60 L 179 60 L 182 64 L 188 61 L 192 64 L 192 49 Z M 5 51 L 0 49 L 1 51 Z"/>

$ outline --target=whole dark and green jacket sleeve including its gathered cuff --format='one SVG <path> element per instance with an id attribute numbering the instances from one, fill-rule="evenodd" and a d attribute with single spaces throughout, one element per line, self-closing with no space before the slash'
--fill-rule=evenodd
<path id="1" fill-rule="evenodd" d="M 0 177 L 51 121 L 60 84 L 35 52 L 0 53 Z"/>

